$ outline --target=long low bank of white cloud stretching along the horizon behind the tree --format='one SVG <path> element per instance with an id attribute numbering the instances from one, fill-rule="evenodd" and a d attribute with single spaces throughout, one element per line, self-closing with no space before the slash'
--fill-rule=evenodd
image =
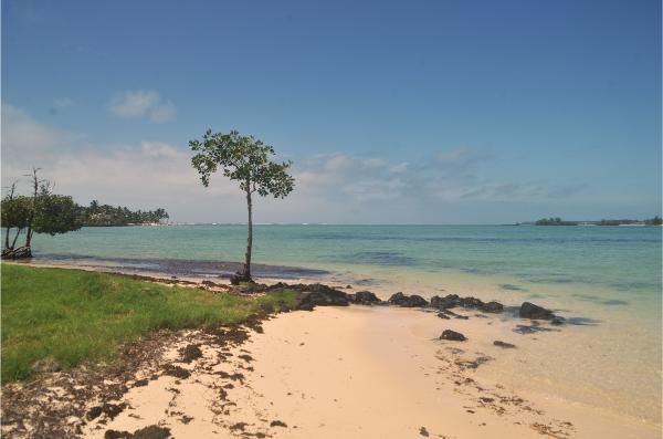
<path id="1" fill-rule="evenodd" d="M 134 209 L 162 207 L 176 221 L 245 221 L 236 185 L 219 173 L 204 188 L 190 158 L 185 146 L 164 142 L 94 145 L 2 105 L 3 186 L 38 166 L 57 192 L 81 203 L 97 199 Z M 578 200 L 585 190 L 487 180 L 480 168 L 484 161 L 467 148 L 410 163 L 350 154 L 297 157 L 295 191 L 284 200 L 256 200 L 256 222 L 449 222 L 462 209 L 476 212 L 502 202 L 549 209 L 554 202 Z M 27 190 L 27 181 L 21 184 Z M 505 220 L 529 219 L 495 211 L 490 208 Z"/>

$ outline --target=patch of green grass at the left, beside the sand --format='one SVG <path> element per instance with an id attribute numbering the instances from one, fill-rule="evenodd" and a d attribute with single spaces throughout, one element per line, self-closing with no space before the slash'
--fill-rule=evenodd
<path id="1" fill-rule="evenodd" d="M 167 286 L 77 270 L 2 264 L 2 383 L 28 379 L 52 357 L 63 367 L 114 362 L 149 332 L 242 322 L 261 309 L 294 306 L 285 291 L 257 299 Z"/>

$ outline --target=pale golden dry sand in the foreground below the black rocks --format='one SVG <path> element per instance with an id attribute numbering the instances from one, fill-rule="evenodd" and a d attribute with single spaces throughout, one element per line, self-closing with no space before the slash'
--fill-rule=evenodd
<path id="1" fill-rule="evenodd" d="M 501 357 L 527 357 L 526 344 L 492 345 L 519 342 L 506 325 L 498 316 L 445 321 L 421 310 L 352 305 L 280 314 L 236 346 L 190 332 L 162 358 L 190 376 L 129 383 L 117 401 L 127 408 L 84 432 L 103 438 L 108 429 L 157 425 L 176 438 L 660 437 L 655 425 L 536 389 L 516 394 L 482 375 Z M 438 339 L 445 328 L 469 341 Z M 537 337 L 545 343 L 547 335 Z M 181 363 L 180 349 L 191 344 L 202 356 Z"/>

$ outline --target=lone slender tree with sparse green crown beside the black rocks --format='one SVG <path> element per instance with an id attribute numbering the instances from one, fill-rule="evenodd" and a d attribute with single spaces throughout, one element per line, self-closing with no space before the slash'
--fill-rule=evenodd
<path id="1" fill-rule="evenodd" d="M 208 129 L 202 139 L 189 142 L 191 150 L 197 153 L 191 164 L 200 174 L 204 187 L 210 184 L 210 176 L 218 169 L 231 180 L 239 181 L 240 189 L 246 194 L 249 209 L 249 229 L 246 237 L 246 254 L 244 270 L 233 276 L 233 283 L 251 281 L 251 247 L 253 244 L 253 194 L 261 197 L 272 195 L 285 198 L 292 192 L 295 180 L 287 174 L 292 161 L 272 161 L 274 148 L 253 136 L 242 136 L 236 130 L 229 134 L 212 133 Z"/>

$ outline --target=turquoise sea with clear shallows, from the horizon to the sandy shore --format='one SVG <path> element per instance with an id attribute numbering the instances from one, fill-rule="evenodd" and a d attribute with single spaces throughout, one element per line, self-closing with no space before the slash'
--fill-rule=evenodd
<path id="1" fill-rule="evenodd" d="M 256 226 L 253 260 L 280 265 L 256 266 L 257 274 L 320 276 L 382 295 L 475 294 L 555 309 L 575 324 L 550 334 L 509 330 L 503 336 L 524 351 L 505 354 L 482 373 L 660 424 L 662 230 Z M 209 261 L 241 260 L 245 226 L 84 228 L 34 241 L 35 253 L 50 259 L 83 255 L 119 266 L 166 264 L 178 274 L 218 275 L 236 265 Z M 535 348 L 532 338 L 546 343 Z"/>

